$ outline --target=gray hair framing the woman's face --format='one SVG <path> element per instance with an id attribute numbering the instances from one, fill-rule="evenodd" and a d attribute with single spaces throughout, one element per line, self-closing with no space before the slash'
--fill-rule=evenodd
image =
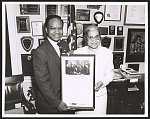
<path id="1" fill-rule="evenodd" d="M 98 30 L 99 36 L 100 36 L 100 38 L 101 38 L 101 32 L 100 32 L 100 30 L 99 30 L 99 27 L 96 26 L 95 24 L 91 24 L 91 25 L 87 26 L 87 27 L 85 28 L 85 31 L 84 31 L 84 46 L 87 45 L 88 32 L 89 32 L 89 31 L 92 31 L 93 29 Z"/>

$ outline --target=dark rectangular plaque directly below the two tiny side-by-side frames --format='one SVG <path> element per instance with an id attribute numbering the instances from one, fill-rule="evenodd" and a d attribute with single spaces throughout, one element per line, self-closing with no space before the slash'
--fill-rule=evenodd
<path id="1" fill-rule="evenodd" d="M 124 37 L 114 37 L 114 51 L 124 50 Z"/>

